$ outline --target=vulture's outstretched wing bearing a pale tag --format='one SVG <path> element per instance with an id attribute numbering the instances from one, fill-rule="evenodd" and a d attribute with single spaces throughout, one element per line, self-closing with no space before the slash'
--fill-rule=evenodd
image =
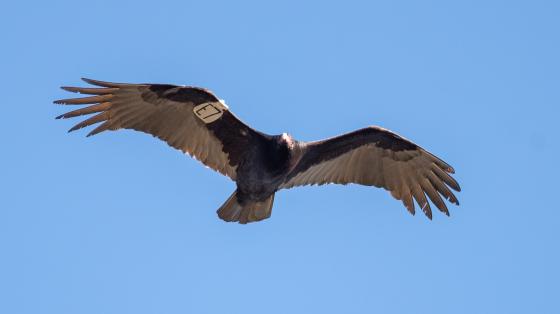
<path id="1" fill-rule="evenodd" d="M 255 137 L 261 136 L 202 88 L 83 80 L 99 87 L 62 89 L 91 96 L 55 101 L 56 104 L 87 105 L 57 119 L 96 114 L 70 131 L 101 123 L 88 136 L 123 128 L 148 133 L 233 180 L 244 153 Z"/>

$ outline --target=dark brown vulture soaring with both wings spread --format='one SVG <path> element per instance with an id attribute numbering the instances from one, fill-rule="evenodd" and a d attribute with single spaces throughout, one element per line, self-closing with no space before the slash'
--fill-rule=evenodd
<path id="1" fill-rule="evenodd" d="M 412 215 L 416 202 L 430 220 L 430 201 L 447 216 L 444 199 L 459 205 L 451 191 L 461 191 L 451 176 L 453 167 L 378 126 L 319 141 L 298 141 L 287 133 L 269 135 L 253 129 L 205 88 L 82 80 L 90 85 L 61 88 L 86 96 L 54 101 L 85 105 L 57 119 L 94 114 L 68 132 L 99 123 L 87 136 L 132 129 L 194 157 L 236 183 L 236 190 L 217 210 L 224 221 L 246 224 L 267 219 L 277 191 L 306 185 L 383 188 Z"/>

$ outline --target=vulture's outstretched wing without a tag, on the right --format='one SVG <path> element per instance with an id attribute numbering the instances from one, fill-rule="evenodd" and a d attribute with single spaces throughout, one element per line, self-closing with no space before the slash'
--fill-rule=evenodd
<path id="1" fill-rule="evenodd" d="M 416 144 L 378 127 L 304 144 L 303 155 L 280 188 L 326 183 L 357 183 L 389 190 L 414 214 L 414 202 L 428 218 L 426 195 L 446 215 L 441 196 L 459 205 L 450 191 L 461 188 L 453 168 Z"/>

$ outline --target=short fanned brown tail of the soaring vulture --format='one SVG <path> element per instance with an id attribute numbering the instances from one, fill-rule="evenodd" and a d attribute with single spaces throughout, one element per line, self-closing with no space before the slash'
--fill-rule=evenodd
<path id="1" fill-rule="evenodd" d="M 237 221 L 240 224 L 260 221 L 272 214 L 274 194 L 262 202 L 246 201 L 241 205 L 237 199 L 237 191 L 218 209 L 218 217 L 225 221 Z"/>

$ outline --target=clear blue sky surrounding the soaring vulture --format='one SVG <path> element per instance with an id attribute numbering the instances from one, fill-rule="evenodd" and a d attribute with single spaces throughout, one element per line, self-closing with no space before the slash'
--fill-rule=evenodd
<path id="1" fill-rule="evenodd" d="M 0 13 L 0 312 L 560 313 L 557 1 L 10 1 Z M 234 183 L 150 136 L 54 117 L 79 78 L 203 86 L 267 133 L 367 125 L 457 170 L 429 221 Z"/>

